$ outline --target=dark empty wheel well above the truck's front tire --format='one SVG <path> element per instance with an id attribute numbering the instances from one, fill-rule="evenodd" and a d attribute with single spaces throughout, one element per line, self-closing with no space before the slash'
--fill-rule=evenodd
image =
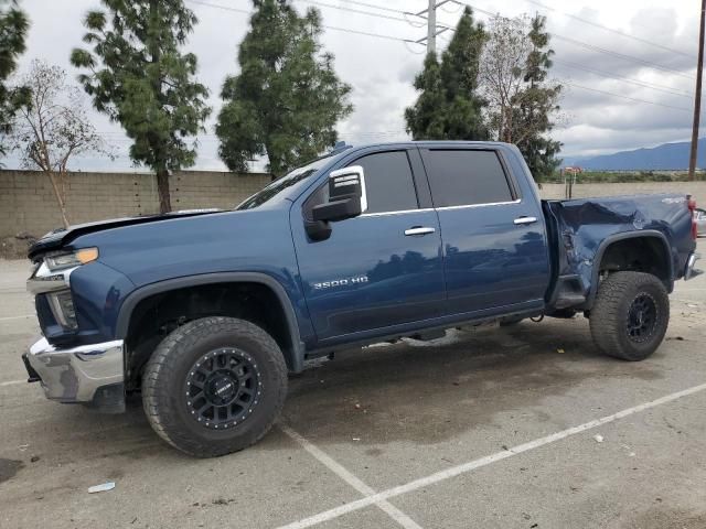
<path id="1" fill-rule="evenodd" d="M 186 322 L 206 316 L 228 316 L 252 322 L 275 338 L 292 365 L 292 336 L 277 294 L 257 282 L 210 283 L 160 292 L 132 310 L 126 337 L 127 389 L 137 389 L 140 374 L 159 343 Z"/>

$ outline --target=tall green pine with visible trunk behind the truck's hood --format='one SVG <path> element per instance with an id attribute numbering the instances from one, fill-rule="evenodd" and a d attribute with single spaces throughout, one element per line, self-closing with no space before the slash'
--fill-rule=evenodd
<path id="1" fill-rule="evenodd" d="M 193 137 L 211 112 L 208 90 L 195 80 L 196 56 L 182 53 L 196 17 L 183 0 L 101 0 L 90 11 L 72 63 L 97 110 L 132 140 L 130 158 L 157 174 L 160 210 L 171 210 L 169 173 L 194 164 Z"/>

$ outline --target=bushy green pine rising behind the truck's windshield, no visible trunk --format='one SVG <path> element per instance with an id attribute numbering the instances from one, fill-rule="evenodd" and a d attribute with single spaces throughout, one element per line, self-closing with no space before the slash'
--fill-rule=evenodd
<path id="1" fill-rule="evenodd" d="M 333 56 L 319 42 L 315 9 L 299 15 L 288 0 L 253 0 L 250 31 L 238 50 L 240 74 L 226 78 L 216 134 L 233 171 L 267 155 L 274 176 L 319 155 L 338 139 L 336 122 L 353 107 Z"/>

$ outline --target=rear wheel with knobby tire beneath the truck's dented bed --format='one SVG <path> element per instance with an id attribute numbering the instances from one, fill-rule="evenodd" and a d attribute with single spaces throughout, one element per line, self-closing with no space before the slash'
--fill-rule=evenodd
<path id="1" fill-rule="evenodd" d="M 641 336 L 631 336 L 635 326 L 646 321 L 643 311 L 631 309 L 646 304 L 654 309 L 653 323 Z M 638 304 L 638 305 L 635 305 Z M 632 314 L 632 315 L 631 315 Z M 662 343 L 670 323 L 670 298 L 662 281 L 650 273 L 614 272 L 599 285 L 590 312 L 590 328 L 595 344 L 607 355 L 622 360 L 648 358 Z"/>

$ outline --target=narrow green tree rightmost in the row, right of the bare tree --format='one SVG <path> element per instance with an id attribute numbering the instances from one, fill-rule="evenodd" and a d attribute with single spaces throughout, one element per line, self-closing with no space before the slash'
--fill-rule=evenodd
<path id="1" fill-rule="evenodd" d="M 515 128 L 524 132 L 516 134 L 517 148 L 536 180 L 552 175 L 561 163 L 557 158 L 561 143 L 547 136 L 554 128 L 552 115 L 560 108 L 558 99 L 561 85 L 547 82 L 554 50 L 548 47 L 549 34 L 545 26 L 545 17 L 537 14 L 532 19 L 527 33 L 532 51 L 527 55 L 523 79 L 526 88 L 521 94 L 513 120 Z"/>

